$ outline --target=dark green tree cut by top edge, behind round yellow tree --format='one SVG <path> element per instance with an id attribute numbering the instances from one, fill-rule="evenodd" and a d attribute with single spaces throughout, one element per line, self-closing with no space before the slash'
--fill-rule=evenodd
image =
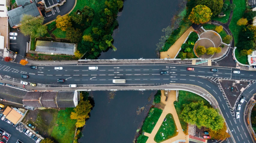
<path id="1" fill-rule="evenodd" d="M 196 5 L 198 4 L 209 7 L 212 10 L 212 16 L 217 16 L 221 13 L 223 0 L 196 0 Z"/>

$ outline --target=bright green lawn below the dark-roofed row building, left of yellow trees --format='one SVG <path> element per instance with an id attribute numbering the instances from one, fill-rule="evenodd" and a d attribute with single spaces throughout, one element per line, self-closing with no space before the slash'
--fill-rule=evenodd
<path id="1" fill-rule="evenodd" d="M 76 120 L 70 119 L 71 112 L 74 108 L 66 108 L 66 110 L 60 110 L 58 113 L 58 119 L 56 120 L 51 136 L 59 143 L 73 143 Z"/>

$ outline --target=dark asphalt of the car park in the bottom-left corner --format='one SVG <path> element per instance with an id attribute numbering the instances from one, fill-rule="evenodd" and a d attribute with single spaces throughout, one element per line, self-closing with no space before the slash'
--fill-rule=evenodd
<path id="1" fill-rule="evenodd" d="M 5 121 L 0 120 L 0 129 L 4 130 L 5 132 L 11 135 L 7 143 L 16 143 L 18 139 L 23 143 L 35 143 L 35 141 L 32 140 L 29 136 L 27 136 L 25 133 L 20 133 L 19 130 L 16 130 L 14 126 L 8 124 Z"/>

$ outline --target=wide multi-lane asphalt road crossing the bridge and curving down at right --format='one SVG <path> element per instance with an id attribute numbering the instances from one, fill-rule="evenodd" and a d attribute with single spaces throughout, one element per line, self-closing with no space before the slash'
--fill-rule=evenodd
<path id="1" fill-rule="evenodd" d="M 98 70 L 89 70 L 89 66 L 97 66 Z M 69 84 L 77 84 L 77 89 L 90 89 L 97 87 L 136 87 L 140 89 L 145 86 L 157 89 L 158 86 L 169 86 L 170 84 L 190 84 L 202 87 L 207 90 L 218 102 L 219 108 L 226 120 L 235 142 L 252 143 L 250 134 L 245 125 L 244 110 L 252 94 L 256 93 L 254 80 L 256 71 L 240 70 L 230 67 L 209 67 L 185 64 L 164 64 L 164 63 L 96 63 L 95 64 L 65 64 L 38 66 L 38 69 L 31 69 L 28 65 L 21 66 L 15 63 L 0 61 L 0 75 L 3 79 L 13 82 L 25 81 L 35 83 L 39 87 L 68 87 Z M 54 67 L 63 67 L 63 70 L 54 70 Z M 187 67 L 193 67 L 194 71 L 188 71 Z M 212 72 L 212 68 L 218 68 L 218 72 Z M 240 71 L 234 74 L 233 71 Z M 166 71 L 166 75 L 160 72 Z M 20 75 L 28 75 L 28 79 Z M 65 79 L 65 82 L 57 82 L 57 79 Z M 115 84 L 113 79 L 126 79 L 125 84 Z M 228 99 L 223 96 L 220 79 L 225 80 L 247 80 L 251 84 L 244 90 L 245 101 L 241 110 L 231 107 Z M 1 81 L 3 82 L 3 81 Z M 28 85 L 26 85 L 28 87 Z M 162 88 L 161 88 L 162 89 Z M 237 103 L 236 103 L 237 104 Z M 240 112 L 240 119 L 236 119 L 236 112 Z"/>

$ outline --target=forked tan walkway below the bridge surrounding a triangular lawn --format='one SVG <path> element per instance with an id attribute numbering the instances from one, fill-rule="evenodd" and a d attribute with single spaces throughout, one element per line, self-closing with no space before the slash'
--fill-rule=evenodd
<path id="1" fill-rule="evenodd" d="M 178 115 L 176 113 L 176 110 L 175 110 L 175 107 L 174 107 L 174 104 L 173 102 L 176 101 L 176 91 L 175 90 L 171 90 L 168 94 L 168 100 L 167 102 L 165 102 L 165 99 L 166 97 L 164 96 L 164 90 L 161 90 L 161 102 L 166 104 L 160 118 L 158 119 L 157 123 L 155 124 L 155 127 L 152 131 L 152 133 L 145 133 L 144 135 L 145 136 L 148 136 L 148 140 L 146 143 L 155 143 L 154 141 L 154 138 L 155 138 L 155 135 L 158 131 L 158 129 L 160 128 L 162 122 L 164 121 L 164 118 L 165 116 L 168 114 L 168 113 L 171 113 L 173 115 L 173 118 L 174 118 L 174 121 L 175 121 L 175 124 L 177 126 L 177 129 L 179 130 L 179 133 L 177 136 L 171 138 L 171 139 L 167 139 L 166 141 L 164 141 L 163 143 L 172 143 L 172 142 L 175 142 L 176 140 L 179 140 L 179 139 L 184 139 L 186 140 L 186 143 L 188 143 L 188 136 L 185 135 L 185 133 L 182 131 L 182 127 L 180 125 L 180 122 L 179 122 L 179 118 L 178 118 Z"/>

